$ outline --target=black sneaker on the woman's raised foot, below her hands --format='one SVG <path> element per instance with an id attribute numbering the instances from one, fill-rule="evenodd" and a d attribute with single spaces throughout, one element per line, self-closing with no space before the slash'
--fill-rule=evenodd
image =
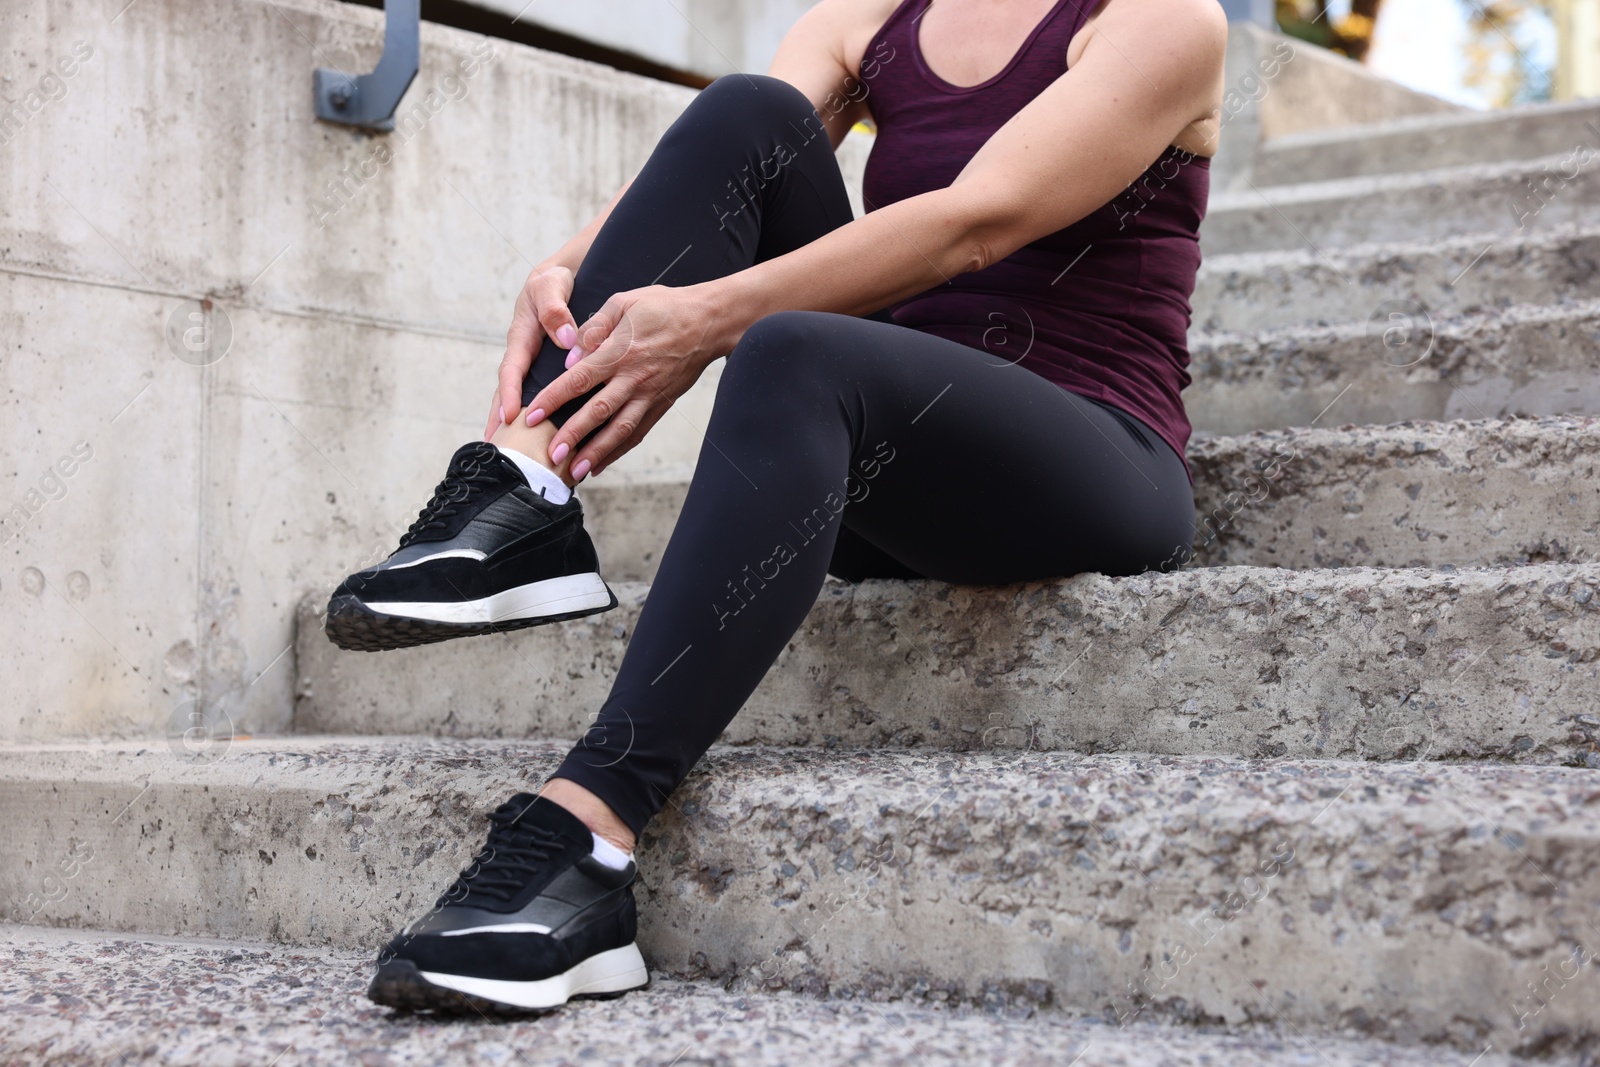
<path id="1" fill-rule="evenodd" d="M 573 496 L 550 504 L 486 442 L 450 459 L 400 547 L 328 600 L 328 640 L 376 653 L 616 606 Z"/>

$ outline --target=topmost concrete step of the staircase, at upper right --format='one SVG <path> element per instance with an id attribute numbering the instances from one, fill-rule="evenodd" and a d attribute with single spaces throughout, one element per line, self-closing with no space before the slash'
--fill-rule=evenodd
<path id="1" fill-rule="evenodd" d="M 1565 157 L 1578 146 L 1600 152 L 1600 104 L 1595 101 L 1413 115 L 1290 133 L 1256 149 L 1251 181 L 1258 186 L 1288 186 L 1304 181 L 1307 174 L 1320 179 L 1363 178 L 1485 160 Z"/>

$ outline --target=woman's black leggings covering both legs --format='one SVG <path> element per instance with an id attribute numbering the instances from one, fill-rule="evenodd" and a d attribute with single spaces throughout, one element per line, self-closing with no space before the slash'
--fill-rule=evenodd
<path id="1" fill-rule="evenodd" d="M 803 94 L 722 78 L 667 130 L 597 235 L 573 315 L 582 323 L 613 293 L 658 280 L 733 274 L 850 219 Z M 544 344 L 523 403 L 565 358 Z M 829 573 L 984 585 L 1134 574 L 1181 561 L 1194 522 L 1182 461 L 1112 406 L 883 314 L 770 315 L 728 357 L 616 685 L 557 776 L 643 829 Z"/>

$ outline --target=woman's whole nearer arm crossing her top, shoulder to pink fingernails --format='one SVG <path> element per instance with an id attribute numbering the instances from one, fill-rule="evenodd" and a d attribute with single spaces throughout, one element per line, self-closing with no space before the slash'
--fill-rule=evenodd
<path id="1" fill-rule="evenodd" d="M 606 386 L 560 427 L 552 451 L 576 450 L 605 424 L 574 456 L 574 467 L 587 459 L 605 469 L 765 315 L 861 315 L 979 270 L 1110 202 L 1182 130 L 1214 112 L 1227 24 L 1211 0 L 1110 0 L 1078 37 L 1085 43 L 1067 72 L 950 187 L 725 278 L 606 301 L 579 330 L 586 358 L 530 405 L 555 411 Z"/>

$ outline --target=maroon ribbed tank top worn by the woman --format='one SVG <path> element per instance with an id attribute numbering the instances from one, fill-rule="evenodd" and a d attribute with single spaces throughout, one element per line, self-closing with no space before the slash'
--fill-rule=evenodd
<path id="1" fill-rule="evenodd" d="M 944 189 L 973 154 L 1066 74 L 1067 43 L 1093 8 L 1059 0 L 1000 74 L 950 85 L 922 58 L 931 0 L 906 0 L 862 59 L 878 136 L 869 211 Z M 894 322 L 989 352 L 1134 416 L 1184 456 L 1189 298 L 1210 190 L 1205 157 L 1168 147 L 1138 181 L 1072 226 L 896 304 Z M 1187 462 L 1187 461 L 1186 461 Z"/>

